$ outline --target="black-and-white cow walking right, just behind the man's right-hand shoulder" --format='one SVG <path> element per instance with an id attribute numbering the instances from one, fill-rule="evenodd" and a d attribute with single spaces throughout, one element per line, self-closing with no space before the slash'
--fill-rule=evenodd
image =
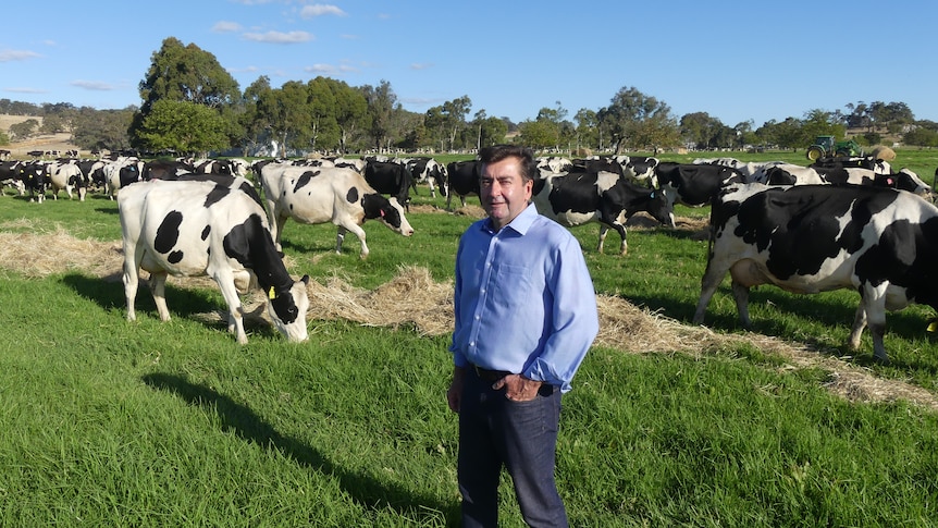
<path id="1" fill-rule="evenodd" d="M 658 189 L 637 185 L 612 172 L 569 172 L 534 181 L 532 201 L 538 212 L 571 228 L 600 222 L 598 253 L 609 229 L 622 240 L 619 254 L 626 255 L 626 222 L 639 211 L 675 225 L 672 202 Z"/>

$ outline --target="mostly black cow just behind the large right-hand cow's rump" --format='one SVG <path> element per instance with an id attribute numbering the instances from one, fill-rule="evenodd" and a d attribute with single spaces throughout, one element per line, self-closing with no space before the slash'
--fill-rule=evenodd
<path id="1" fill-rule="evenodd" d="M 727 183 L 742 182 L 742 174 L 732 167 L 717 163 L 662 161 L 655 167 L 655 179 L 669 199 L 701 207 L 709 204 Z"/>

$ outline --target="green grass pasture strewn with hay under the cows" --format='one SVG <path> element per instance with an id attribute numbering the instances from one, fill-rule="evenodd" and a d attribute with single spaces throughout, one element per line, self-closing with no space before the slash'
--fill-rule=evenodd
<path id="1" fill-rule="evenodd" d="M 898 155 L 896 170 L 931 182 L 938 152 Z M 168 323 L 146 288 L 125 320 L 114 201 L 7 191 L 0 525 L 457 526 L 447 295 L 481 210 L 443 211 L 423 186 L 414 204 L 409 238 L 366 222 L 367 260 L 354 238 L 334 254 L 332 224 L 287 222 L 287 268 L 316 282 L 310 341 L 256 323 L 239 346 L 206 281 L 170 279 Z M 692 327 L 707 212 L 679 208 L 674 230 L 635 219 L 624 258 L 616 244 L 596 254 L 597 224 L 572 229 L 604 328 L 564 398 L 571 525 L 931 526 L 934 311 L 887 316 L 890 366 L 868 333 L 844 351 L 852 292 L 760 287 L 744 332 L 727 280 L 709 330 Z M 502 491 L 503 526 L 519 526 L 507 480 Z"/>

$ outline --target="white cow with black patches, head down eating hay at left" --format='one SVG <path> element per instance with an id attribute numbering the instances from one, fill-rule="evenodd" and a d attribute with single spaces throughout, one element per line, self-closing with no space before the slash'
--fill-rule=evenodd
<path id="1" fill-rule="evenodd" d="M 252 196 L 251 196 L 252 194 Z M 260 287 L 276 329 L 289 341 L 308 337 L 309 277 L 294 281 L 273 244 L 260 197 L 244 179 L 139 183 L 118 194 L 124 247 L 127 320 L 136 319 L 134 300 L 140 268 L 150 272 L 150 290 L 160 319 L 168 321 L 166 277 L 209 275 L 229 307 L 229 331 L 247 343 L 238 290 Z"/>

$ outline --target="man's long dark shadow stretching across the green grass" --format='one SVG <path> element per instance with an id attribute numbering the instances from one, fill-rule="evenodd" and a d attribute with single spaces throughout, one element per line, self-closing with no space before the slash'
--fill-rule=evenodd
<path id="1" fill-rule="evenodd" d="M 222 428 L 245 441 L 283 454 L 300 466 L 323 475 L 335 476 L 343 490 L 366 511 L 374 511 L 387 505 L 405 518 L 428 518 L 428 520 L 435 518 L 430 517 L 433 513 L 443 513 L 448 525 L 458 524 L 458 504 L 442 504 L 434 498 L 421 496 L 403 487 L 382 483 L 367 475 L 338 467 L 317 449 L 279 432 L 247 405 L 208 386 L 192 383 L 185 376 L 158 372 L 144 376 L 143 381 L 155 390 L 175 394 L 188 405 L 200 407 L 205 412 L 217 413 Z M 417 520 L 417 524 L 422 523 Z"/>

